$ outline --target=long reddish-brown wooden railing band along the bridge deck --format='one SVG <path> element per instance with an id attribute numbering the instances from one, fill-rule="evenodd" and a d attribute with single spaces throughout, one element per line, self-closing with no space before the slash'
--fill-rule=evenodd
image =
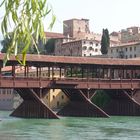
<path id="1" fill-rule="evenodd" d="M 58 84 L 78 88 L 140 89 L 140 79 L 0 77 L 0 87 L 55 87 Z"/>

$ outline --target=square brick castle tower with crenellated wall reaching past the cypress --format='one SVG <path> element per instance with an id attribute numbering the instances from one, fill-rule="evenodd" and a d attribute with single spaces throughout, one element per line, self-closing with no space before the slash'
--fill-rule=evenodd
<path id="1" fill-rule="evenodd" d="M 63 34 L 77 40 L 98 40 L 101 41 L 102 34 L 90 31 L 89 19 L 69 19 L 63 21 Z M 111 41 L 119 42 L 118 36 L 110 36 Z M 112 42 L 113 43 L 113 42 Z"/>

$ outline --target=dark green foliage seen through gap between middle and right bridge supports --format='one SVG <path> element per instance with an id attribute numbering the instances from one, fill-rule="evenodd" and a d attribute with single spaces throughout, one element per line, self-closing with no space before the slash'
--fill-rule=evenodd
<path id="1" fill-rule="evenodd" d="M 92 102 L 97 106 L 103 108 L 110 102 L 110 97 L 103 90 L 98 90 L 93 97 Z"/>

